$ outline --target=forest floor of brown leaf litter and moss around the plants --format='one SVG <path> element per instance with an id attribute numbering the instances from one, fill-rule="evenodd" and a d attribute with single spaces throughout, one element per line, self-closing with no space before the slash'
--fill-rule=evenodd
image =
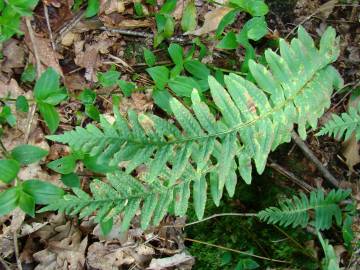
<path id="1" fill-rule="evenodd" d="M 0 62 L 0 97 L 16 99 L 24 95 L 32 99 L 36 72 L 54 68 L 70 93 L 70 98 L 57 106 L 60 125 L 57 133 L 85 126 L 97 113 L 112 115 L 113 94 L 121 95 L 120 110 L 126 112 L 154 112 L 164 115 L 151 96 L 151 80 L 145 69 L 144 48 L 153 51 L 157 63 L 169 64 L 167 42 L 156 49 L 153 38 L 144 37 L 156 31 L 152 18 L 136 18 L 133 1 L 110 0 L 100 7 L 99 15 L 83 17 L 83 9 L 74 11 L 73 1 L 46 0 L 38 4 L 30 25 L 22 23 L 23 36 L 13 37 L 2 46 Z M 101 1 L 106 2 L 106 1 Z M 135 1 L 136 2 L 136 1 Z M 143 1 L 145 2 L 145 1 Z M 161 1 L 158 1 L 161 2 Z M 178 1 L 173 12 L 179 23 L 188 1 Z M 219 8 L 214 3 L 195 1 L 198 24 L 206 14 Z M 220 1 L 221 2 L 221 1 Z M 336 92 L 332 105 L 320 119 L 326 123 L 332 113 L 340 114 L 360 101 L 360 7 L 358 1 L 327 0 L 268 0 L 266 15 L 269 34 L 254 42 L 256 54 L 274 46 L 279 37 L 290 40 L 296 28 L 302 25 L 315 39 L 327 26 L 340 36 L 341 53 L 334 63 L 344 78 L 345 87 Z M 148 7 L 156 12 L 156 7 Z M 232 25 L 241 29 L 248 15 L 238 15 Z M 205 20 L 206 21 L 206 20 Z M 209 22 L 208 22 L 209 23 Z M 210 22 L 211 24 L 211 22 Z M 105 27 L 105 28 L 103 28 Z M 109 31 L 121 29 L 120 32 Z M 187 39 L 179 27 L 175 37 Z M 217 40 L 200 36 L 208 49 L 203 62 L 218 70 L 241 69 L 244 50 L 224 51 L 215 47 Z M 190 43 L 183 43 L 186 50 Z M 239 60 L 240 59 L 240 60 Z M 38 63 L 41 63 L 38 65 Z M 99 83 L 99 72 L 110 69 L 121 72 L 120 79 L 136 84 L 136 90 L 124 96 L 118 85 L 104 87 Z M 37 70 L 38 69 L 38 70 Z M 24 79 L 25 75 L 29 76 Z M 96 93 L 94 111 L 86 111 L 84 103 L 76 98 L 84 89 Z M 30 104 L 31 105 L 31 104 Z M 13 104 L 11 105 L 13 106 Z M 60 175 L 46 167 L 46 163 L 69 153 L 68 147 L 45 139 L 49 129 L 37 112 L 14 112 L 17 123 L 10 128 L 3 125 L 2 143 L 8 149 L 26 141 L 49 150 L 46 160 L 27 166 L 21 172 L 23 179 L 43 179 L 64 186 Z M 354 138 L 345 142 L 326 136 L 309 134 L 306 145 L 338 181 L 341 188 L 351 188 L 360 208 L 360 145 Z M 278 200 L 312 188 L 330 188 L 331 184 L 304 155 L 295 142 L 280 147 L 271 154 L 263 175 L 255 175 L 252 185 L 239 184 L 233 198 L 226 197 L 219 207 L 208 202 L 205 217 L 219 213 L 251 213 L 274 205 Z M 86 189 L 94 178 L 81 164 L 78 165 L 81 186 Z M 1 173 L 1 172 L 0 172 Z M 298 180 L 298 181 L 297 181 Z M 300 182 L 300 184 L 299 184 Z M 305 188 L 304 188 L 305 186 Z M 2 187 L 0 187 L 2 189 Z M 191 208 L 191 207 L 190 207 Z M 102 236 L 93 219 L 78 220 L 61 213 L 42 213 L 35 218 L 15 210 L 0 218 L 0 269 L 17 269 L 17 259 L 23 269 L 317 269 L 322 256 L 319 243 L 303 229 L 283 229 L 262 224 L 252 218 L 236 216 L 216 217 L 183 228 L 196 221 L 190 211 L 187 218 L 167 216 L 161 226 L 142 232 L 132 227 L 126 234 L 115 230 Z M 169 228 L 166 225 L 178 224 Z M 359 219 L 353 230 L 360 233 Z M 344 269 L 353 261 L 341 238 L 341 232 L 328 232 Z M 14 238 L 15 236 L 15 238 Z M 240 252 L 239 252 L 240 251 Z M 261 258 L 244 255 L 247 252 Z M 264 259 L 265 258 L 265 259 Z M 282 265 L 273 260 L 290 261 Z M 152 268 L 147 268 L 149 265 Z"/>

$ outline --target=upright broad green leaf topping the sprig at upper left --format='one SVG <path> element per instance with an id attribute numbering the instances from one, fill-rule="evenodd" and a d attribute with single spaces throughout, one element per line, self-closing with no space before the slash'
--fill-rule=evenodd
<path id="1" fill-rule="evenodd" d="M 60 76 L 52 68 L 47 68 L 36 81 L 34 96 L 37 101 L 42 101 L 59 92 Z"/>

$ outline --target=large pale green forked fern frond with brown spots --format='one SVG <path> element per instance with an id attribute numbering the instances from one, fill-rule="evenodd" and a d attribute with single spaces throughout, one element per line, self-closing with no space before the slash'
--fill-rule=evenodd
<path id="1" fill-rule="evenodd" d="M 158 224 L 169 208 L 184 215 L 192 189 L 194 208 L 201 219 L 208 182 L 217 205 L 224 187 L 230 196 L 234 194 L 237 172 L 250 184 L 252 160 L 262 173 L 270 151 L 290 141 L 294 124 L 305 138 L 307 125 L 316 127 L 330 105 L 333 88 L 342 85 L 330 65 L 339 54 L 334 29 L 326 30 L 319 49 L 302 27 L 291 44 L 280 40 L 279 45 L 280 55 L 265 52 L 268 68 L 250 61 L 255 83 L 229 74 L 225 76 L 226 90 L 209 77 L 219 115 L 211 113 L 194 89 L 191 110 L 175 98 L 170 101 L 175 124 L 133 111 L 126 119 L 115 108 L 113 124 L 101 117 L 100 127 L 90 124 L 49 136 L 97 156 L 99 164 L 125 164 L 125 170 L 107 175 L 108 183 L 95 180 L 92 197 L 75 189 L 75 195 L 66 195 L 45 210 L 65 210 L 81 217 L 98 210 L 98 221 L 102 222 L 124 211 L 125 230 L 141 208 L 141 223 L 146 228 L 151 221 Z M 135 175 L 139 166 L 146 170 L 135 179 L 130 174 Z"/>

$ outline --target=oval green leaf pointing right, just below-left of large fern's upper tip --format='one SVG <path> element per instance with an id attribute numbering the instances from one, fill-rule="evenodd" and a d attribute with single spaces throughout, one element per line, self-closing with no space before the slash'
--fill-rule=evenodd
<path id="1" fill-rule="evenodd" d="M 48 155 L 48 151 L 29 144 L 22 144 L 11 151 L 11 156 L 19 163 L 28 165 L 41 160 Z"/>

